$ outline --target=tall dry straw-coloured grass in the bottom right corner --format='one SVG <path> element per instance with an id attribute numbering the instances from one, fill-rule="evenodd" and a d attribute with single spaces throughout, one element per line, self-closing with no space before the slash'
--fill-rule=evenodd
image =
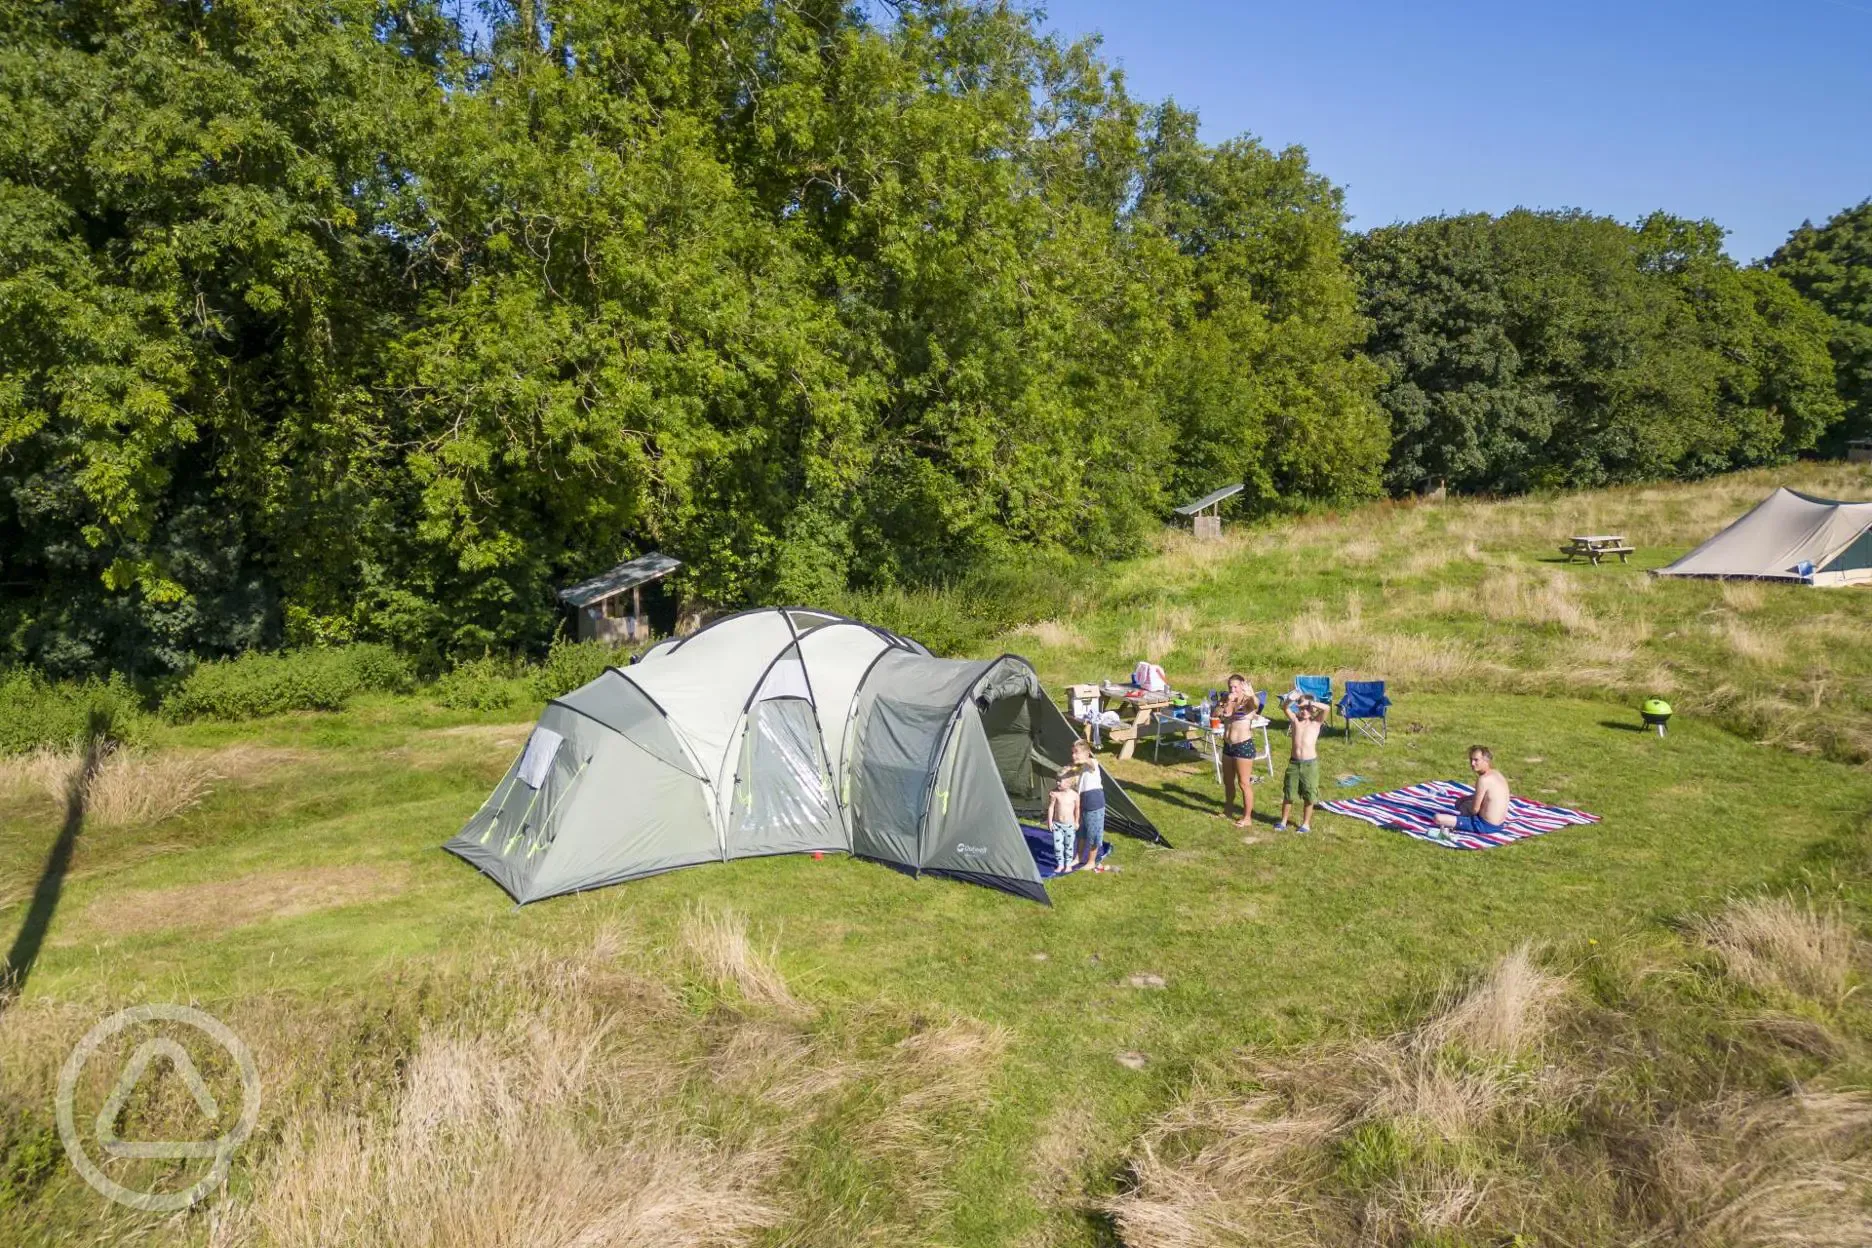
<path id="1" fill-rule="evenodd" d="M 1410 1031 L 1191 1087 L 1104 1209 L 1129 1248 L 1872 1242 L 1872 1096 L 1634 1102 L 1660 1042 L 1518 949 Z"/>

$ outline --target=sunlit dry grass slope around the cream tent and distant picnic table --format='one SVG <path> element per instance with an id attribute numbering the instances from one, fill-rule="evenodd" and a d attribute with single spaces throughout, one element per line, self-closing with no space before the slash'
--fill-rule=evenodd
<path id="1" fill-rule="evenodd" d="M 1872 685 L 1857 677 L 1872 662 L 1872 595 L 1558 563 L 1554 543 L 1580 531 L 1625 533 L 1642 561 L 1696 544 L 1782 483 L 1872 496 L 1863 466 L 1801 464 L 1580 494 L 1374 503 L 1234 530 L 1222 543 L 1166 539 L 1157 559 L 1101 582 L 1125 604 L 1125 623 L 1110 636 L 1095 617 L 1084 629 L 1123 659 L 1176 651 L 1166 666 L 1181 679 L 1294 662 L 1389 679 L 1395 698 L 1492 689 L 1629 707 L 1664 694 L 1681 722 L 1872 763 Z M 1129 608 L 1140 599 L 1161 606 L 1140 617 Z M 1206 621 L 1194 647 L 1166 625 L 1179 602 Z"/>

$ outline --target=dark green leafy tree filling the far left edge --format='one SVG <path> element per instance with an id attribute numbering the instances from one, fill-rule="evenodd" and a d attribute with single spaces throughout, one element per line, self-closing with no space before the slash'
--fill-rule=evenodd
<path id="1" fill-rule="evenodd" d="M 404 303 L 369 206 L 447 30 L 359 0 L 0 17 L 9 649 L 174 666 L 337 591 Z"/>

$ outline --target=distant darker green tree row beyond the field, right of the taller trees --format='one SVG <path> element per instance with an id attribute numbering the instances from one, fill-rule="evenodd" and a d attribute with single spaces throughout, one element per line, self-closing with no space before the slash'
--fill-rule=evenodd
<path id="1" fill-rule="evenodd" d="M 1707 221 L 1434 217 L 1365 234 L 1353 264 L 1393 490 L 1700 477 L 1812 449 L 1840 417 L 1825 312 Z"/>

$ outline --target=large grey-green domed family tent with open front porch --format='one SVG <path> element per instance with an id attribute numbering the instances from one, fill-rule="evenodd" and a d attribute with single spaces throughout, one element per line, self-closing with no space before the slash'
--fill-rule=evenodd
<path id="1" fill-rule="evenodd" d="M 1020 823 L 1039 821 L 1073 741 L 1024 659 L 934 659 L 827 612 L 743 612 L 547 704 L 446 848 L 522 904 L 811 851 L 1045 902 Z M 1163 842 L 1110 776 L 1104 791 L 1106 827 Z"/>

